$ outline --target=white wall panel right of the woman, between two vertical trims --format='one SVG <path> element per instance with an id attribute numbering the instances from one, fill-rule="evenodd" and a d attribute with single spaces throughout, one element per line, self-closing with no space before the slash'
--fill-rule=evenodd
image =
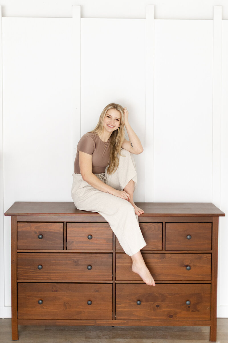
<path id="1" fill-rule="evenodd" d="M 155 202 L 212 201 L 212 37 L 212 20 L 155 20 Z"/>

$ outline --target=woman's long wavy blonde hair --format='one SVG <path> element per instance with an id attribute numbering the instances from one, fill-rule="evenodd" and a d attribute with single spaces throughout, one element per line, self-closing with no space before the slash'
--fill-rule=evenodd
<path id="1" fill-rule="evenodd" d="M 119 132 L 118 130 L 115 130 L 112 132 L 109 140 L 110 140 L 110 164 L 107 169 L 108 174 L 112 174 L 116 171 L 117 167 L 119 166 L 119 155 L 121 155 L 120 150 L 122 143 L 125 139 L 125 129 L 124 129 L 124 110 L 123 107 L 119 104 L 111 103 L 108 104 L 102 111 L 99 117 L 99 121 L 97 123 L 97 126 L 94 130 L 89 131 L 93 132 L 97 135 L 101 134 L 103 132 L 103 121 L 106 116 L 106 113 L 109 109 L 116 109 L 120 112 L 121 118 L 120 118 L 120 127 Z"/>

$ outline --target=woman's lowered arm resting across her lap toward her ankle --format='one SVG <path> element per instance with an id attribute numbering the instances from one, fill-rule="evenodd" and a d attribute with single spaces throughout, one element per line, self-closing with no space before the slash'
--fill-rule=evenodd
<path id="1" fill-rule="evenodd" d="M 83 180 L 88 182 L 88 184 L 90 184 L 92 187 L 98 189 L 99 191 L 110 193 L 125 200 L 128 200 L 130 198 L 130 195 L 127 192 L 119 191 L 109 185 L 106 185 L 92 173 L 92 155 L 79 151 L 79 166 Z"/>

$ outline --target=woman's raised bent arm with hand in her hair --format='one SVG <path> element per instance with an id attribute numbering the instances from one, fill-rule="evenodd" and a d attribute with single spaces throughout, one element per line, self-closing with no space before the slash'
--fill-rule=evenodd
<path id="1" fill-rule="evenodd" d="M 129 141 L 125 139 L 121 147 L 123 149 L 130 151 L 132 154 L 136 154 L 136 155 L 141 154 L 143 152 L 143 146 L 138 136 L 136 135 L 131 125 L 129 124 L 128 110 L 126 109 L 126 107 L 124 107 L 124 126 L 128 132 Z"/>

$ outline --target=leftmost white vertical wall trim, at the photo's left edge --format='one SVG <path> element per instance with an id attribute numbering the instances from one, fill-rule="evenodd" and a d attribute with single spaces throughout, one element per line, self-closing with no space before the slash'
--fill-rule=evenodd
<path id="1" fill-rule="evenodd" d="M 3 115 L 2 115 L 2 7 L 0 6 L 0 312 L 4 312 L 4 206 L 3 206 Z"/>

